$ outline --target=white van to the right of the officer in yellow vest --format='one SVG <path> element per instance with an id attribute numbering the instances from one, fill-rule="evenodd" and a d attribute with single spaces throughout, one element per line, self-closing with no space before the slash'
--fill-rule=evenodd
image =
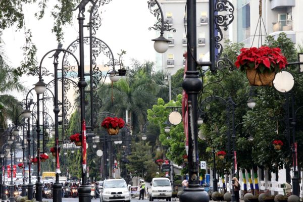
<path id="1" fill-rule="evenodd" d="M 150 188 L 148 190 L 149 201 L 157 199 L 172 200 L 172 185 L 170 180 L 165 177 L 155 177 L 151 180 Z"/>

